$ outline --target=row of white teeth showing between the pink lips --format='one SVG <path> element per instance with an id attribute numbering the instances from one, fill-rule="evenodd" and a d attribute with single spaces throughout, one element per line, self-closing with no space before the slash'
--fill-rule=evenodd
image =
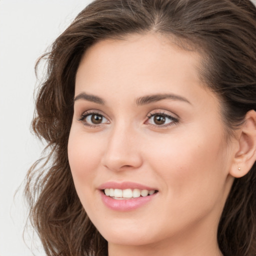
<path id="1" fill-rule="evenodd" d="M 147 190 L 147 189 L 138 189 L 138 188 L 134 188 L 134 189 L 105 188 L 102 191 L 106 196 L 109 196 L 117 200 L 145 197 L 157 192 L 157 190 Z"/>

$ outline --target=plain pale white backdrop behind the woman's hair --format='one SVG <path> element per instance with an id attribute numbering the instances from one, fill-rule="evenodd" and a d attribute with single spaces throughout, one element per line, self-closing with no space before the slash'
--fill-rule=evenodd
<path id="1" fill-rule="evenodd" d="M 25 232 L 22 183 L 43 144 L 30 133 L 34 64 L 91 0 L 0 0 L 0 256 L 44 255 Z M 256 0 L 253 0 L 255 3 Z"/>

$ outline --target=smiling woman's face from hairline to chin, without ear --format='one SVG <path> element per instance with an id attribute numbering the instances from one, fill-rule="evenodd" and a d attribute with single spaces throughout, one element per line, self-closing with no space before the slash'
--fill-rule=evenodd
<path id="1" fill-rule="evenodd" d="M 232 146 L 199 65 L 159 34 L 100 41 L 82 57 L 68 159 L 109 244 L 215 238 Z"/>

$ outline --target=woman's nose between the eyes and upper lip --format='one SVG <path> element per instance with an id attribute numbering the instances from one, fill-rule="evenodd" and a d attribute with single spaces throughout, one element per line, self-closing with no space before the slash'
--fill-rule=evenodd
<path id="1" fill-rule="evenodd" d="M 138 136 L 131 127 L 118 125 L 110 131 L 101 163 L 110 170 L 136 169 L 142 164 Z"/>

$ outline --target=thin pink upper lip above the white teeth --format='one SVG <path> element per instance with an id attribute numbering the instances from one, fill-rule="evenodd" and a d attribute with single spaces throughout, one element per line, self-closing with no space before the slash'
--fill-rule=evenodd
<path id="1" fill-rule="evenodd" d="M 103 190 L 105 188 L 117 188 L 117 189 L 127 189 L 127 188 L 137 188 L 137 189 L 146 189 L 146 190 L 157 190 L 154 187 L 149 187 L 140 183 L 124 181 L 124 182 L 116 182 L 116 181 L 107 181 L 102 183 L 98 189 Z"/>

